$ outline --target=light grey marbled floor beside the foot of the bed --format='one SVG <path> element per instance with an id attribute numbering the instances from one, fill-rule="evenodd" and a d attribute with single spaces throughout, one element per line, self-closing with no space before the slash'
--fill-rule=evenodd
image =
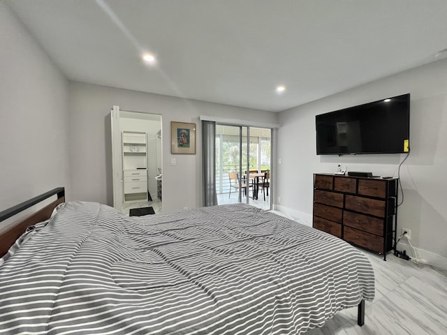
<path id="1" fill-rule="evenodd" d="M 349 308 L 306 335 L 445 335 L 447 334 L 447 271 L 416 265 L 388 253 L 365 254 L 376 276 L 376 297 L 366 301 L 365 325 L 357 325 L 357 308 Z"/>

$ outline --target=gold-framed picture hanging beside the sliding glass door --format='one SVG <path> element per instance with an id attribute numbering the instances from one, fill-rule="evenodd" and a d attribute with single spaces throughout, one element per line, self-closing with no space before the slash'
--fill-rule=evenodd
<path id="1" fill-rule="evenodd" d="M 196 154 L 196 124 L 170 123 L 171 154 Z"/>

